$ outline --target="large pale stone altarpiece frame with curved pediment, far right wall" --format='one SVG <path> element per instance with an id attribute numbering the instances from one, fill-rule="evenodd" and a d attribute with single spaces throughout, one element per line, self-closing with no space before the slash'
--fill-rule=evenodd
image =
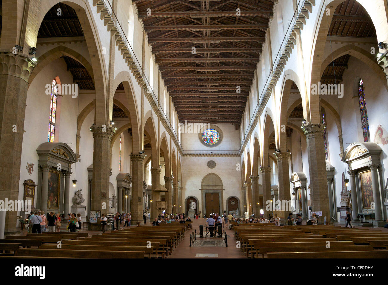
<path id="1" fill-rule="evenodd" d="M 386 219 L 382 195 L 381 151 L 376 143 L 356 142 L 346 148 L 342 158 L 349 169 L 353 220 L 357 221 L 357 216 L 362 216 L 363 222 L 368 221 L 373 223 L 373 226 L 384 226 Z M 367 189 L 365 181 L 361 181 L 364 177 L 371 191 Z M 368 199 L 369 203 L 365 204 L 365 199 Z M 372 205 L 370 205 L 371 199 L 373 199 Z"/>

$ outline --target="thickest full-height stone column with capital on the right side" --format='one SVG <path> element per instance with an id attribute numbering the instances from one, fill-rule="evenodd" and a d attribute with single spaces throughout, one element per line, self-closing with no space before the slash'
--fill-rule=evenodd
<path id="1" fill-rule="evenodd" d="M 329 221 L 330 207 L 327 192 L 326 157 L 323 140 L 323 124 L 303 126 L 306 135 L 312 211 L 322 211 L 322 224 Z"/>

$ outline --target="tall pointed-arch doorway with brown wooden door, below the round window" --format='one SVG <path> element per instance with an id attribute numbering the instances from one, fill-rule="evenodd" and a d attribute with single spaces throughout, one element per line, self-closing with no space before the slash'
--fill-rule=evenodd
<path id="1" fill-rule="evenodd" d="M 201 194 L 202 194 L 202 212 L 206 216 L 209 216 L 210 213 L 219 213 L 223 212 L 223 183 L 220 178 L 215 173 L 207 174 L 201 183 Z"/>

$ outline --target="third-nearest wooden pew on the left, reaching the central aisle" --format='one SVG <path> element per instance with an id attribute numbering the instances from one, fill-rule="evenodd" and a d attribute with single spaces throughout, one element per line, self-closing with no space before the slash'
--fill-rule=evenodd
<path id="1" fill-rule="evenodd" d="M 106 241 L 98 241 L 95 240 L 95 238 L 89 238 L 88 240 L 64 240 L 62 241 L 63 245 L 93 245 L 95 247 L 99 246 L 116 246 L 116 247 L 147 247 L 147 245 L 151 245 L 151 249 L 153 250 L 153 253 L 151 254 L 151 257 L 161 257 L 165 258 L 165 253 L 162 250 L 159 250 L 159 242 L 112 242 L 109 241 L 107 244 Z M 159 250 L 159 251 L 158 251 Z"/>

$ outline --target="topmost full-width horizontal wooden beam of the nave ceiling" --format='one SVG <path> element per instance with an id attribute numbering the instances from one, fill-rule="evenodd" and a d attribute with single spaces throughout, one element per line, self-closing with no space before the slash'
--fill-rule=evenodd
<path id="1" fill-rule="evenodd" d="M 238 17 L 236 15 L 236 10 L 230 11 L 152 11 L 148 12 L 139 12 L 139 18 L 147 19 L 152 17 L 192 17 L 192 18 L 202 18 L 202 17 L 222 17 L 222 16 L 232 16 Z M 262 17 L 273 17 L 274 14 L 272 10 L 241 10 L 240 17 L 246 16 L 262 16 Z"/>

